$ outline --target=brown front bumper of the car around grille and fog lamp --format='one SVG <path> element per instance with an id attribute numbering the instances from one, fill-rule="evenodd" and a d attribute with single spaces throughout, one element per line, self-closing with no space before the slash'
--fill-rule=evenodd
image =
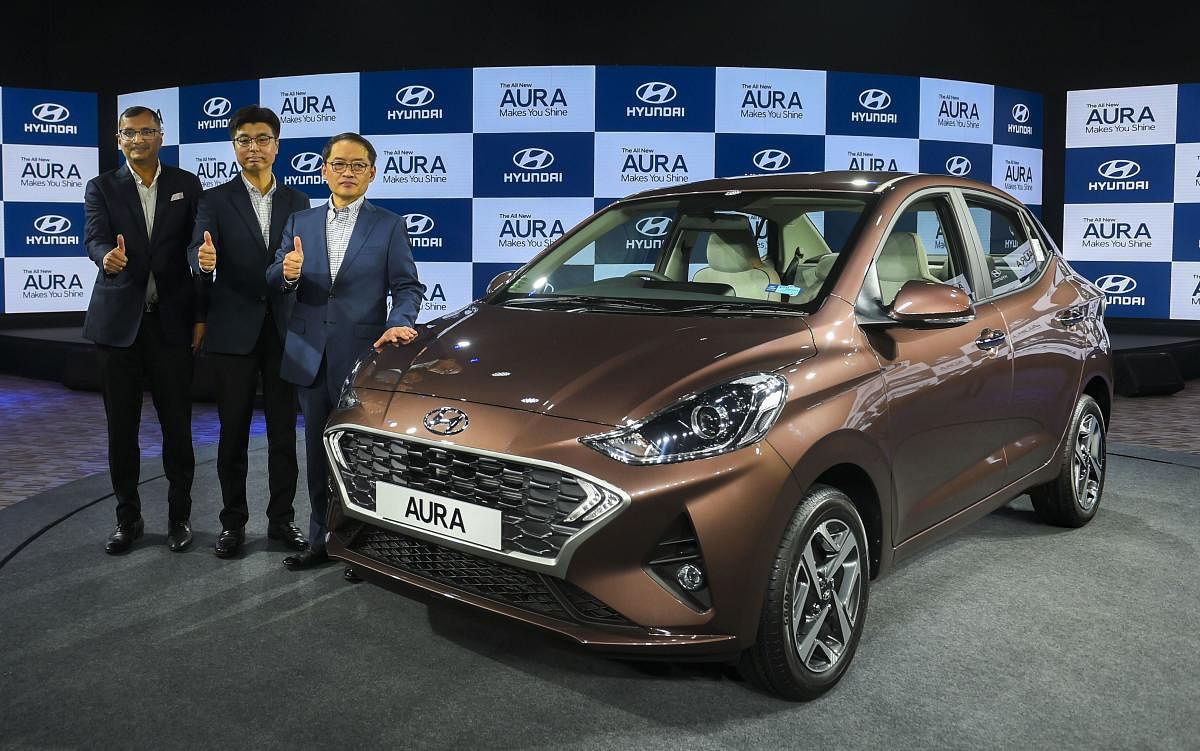
<path id="1" fill-rule="evenodd" d="M 754 641 L 779 542 L 773 530 L 799 498 L 790 468 L 764 443 L 695 462 L 630 467 L 578 443 L 598 432 L 593 423 L 468 404 L 472 427 L 481 429 L 433 440 L 415 433 L 427 433 L 421 417 L 446 401 L 390 396 L 365 393 L 362 407 L 336 414 L 326 431 L 338 501 L 331 504 L 331 555 L 380 575 L 376 581 L 386 577 L 596 649 L 725 656 Z M 335 456 L 331 438 L 359 458 Z M 365 468 L 370 481 L 355 480 L 348 464 Z M 499 477 L 506 480 L 498 485 Z M 572 479 L 611 489 L 622 503 L 592 522 L 564 523 L 578 495 Z M 384 518 L 364 495 L 376 481 L 433 487 L 440 497 L 500 509 L 502 548 Z M 698 600 L 649 565 L 672 549 L 680 528 L 694 530 L 706 572 Z"/>

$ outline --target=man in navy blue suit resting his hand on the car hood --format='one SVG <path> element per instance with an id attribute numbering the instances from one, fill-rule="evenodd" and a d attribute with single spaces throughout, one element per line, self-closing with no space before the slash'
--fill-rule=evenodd
<path id="1" fill-rule="evenodd" d="M 367 348 L 378 350 L 416 338 L 414 325 L 425 294 L 404 220 L 366 200 L 376 176 L 371 142 L 358 133 L 341 133 L 329 139 L 322 157 L 322 175 L 332 193 L 329 203 L 292 215 L 275 263 L 266 270 L 268 286 L 295 296 L 280 372 L 299 386 L 312 505 L 310 547 L 283 559 L 289 569 L 330 560 L 325 553 L 329 473 L 322 433 L 342 384 Z"/>

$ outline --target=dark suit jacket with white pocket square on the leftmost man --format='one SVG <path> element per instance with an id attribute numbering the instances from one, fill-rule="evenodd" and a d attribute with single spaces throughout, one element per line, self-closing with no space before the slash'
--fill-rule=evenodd
<path id="1" fill-rule="evenodd" d="M 146 283 L 154 271 L 158 316 L 170 344 L 191 344 L 192 326 L 203 320 L 203 290 L 187 268 L 200 181 L 190 172 L 162 166 L 155 204 L 154 235 L 128 164 L 88 181 L 84 191 L 84 244 L 100 266 L 88 302 L 83 335 L 98 344 L 128 347 L 137 338 L 145 305 Z M 128 259 L 119 274 L 104 274 L 104 254 L 125 235 Z"/>

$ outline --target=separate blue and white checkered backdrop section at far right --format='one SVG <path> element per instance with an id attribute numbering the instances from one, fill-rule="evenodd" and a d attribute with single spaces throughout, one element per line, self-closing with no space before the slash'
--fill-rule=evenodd
<path id="1" fill-rule="evenodd" d="M 1067 94 L 1063 252 L 1118 318 L 1200 320 L 1200 84 Z"/>

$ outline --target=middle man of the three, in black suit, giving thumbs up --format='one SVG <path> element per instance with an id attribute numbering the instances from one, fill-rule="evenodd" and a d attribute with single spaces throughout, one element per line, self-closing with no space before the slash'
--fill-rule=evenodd
<path id="1" fill-rule="evenodd" d="M 293 549 L 307 545 L 293 524 L 296 491 L 295 389 L 280 378 L 290 299 L 268 288 L 283 224 L 308 208 L 308 198 L 275 180 L 280 119 L 264 107 L 242 107 L 229 119 L 229 137 L 241 174 L 200 197 L 196 232 L 187 248 L 192 272 L 208 284 L 205 350 L 212 361 L 221 438 L 221 534 L 214 552 L 238 553 L 250 518 L 246 503 L 247 445 L 254 393 L 263 385 L 266 419 L 266 536 Z"/>

